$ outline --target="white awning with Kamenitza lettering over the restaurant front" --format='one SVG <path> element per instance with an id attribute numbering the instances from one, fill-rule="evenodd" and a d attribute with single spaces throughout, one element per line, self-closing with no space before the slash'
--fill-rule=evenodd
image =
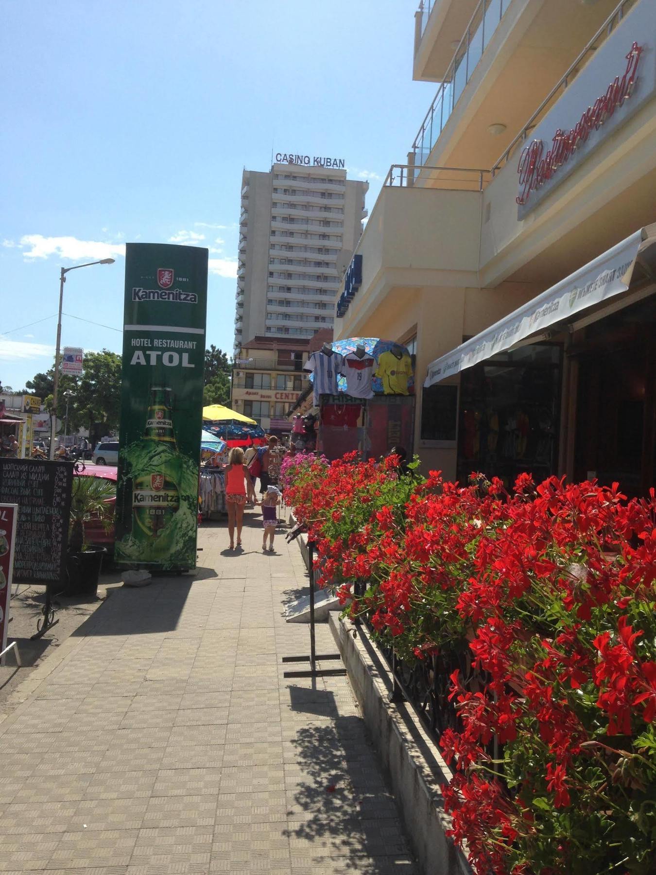
<path id="1" fill-rule="evenodd" d="M 653 232 L 653 229 L 653 226 L 649 226 L 649 232 Z M 499 319 L 499 322 L 476 337 L 432 361 L 423 385 L 432 386 L 446 377 L 464 371 L 465 367 L 472 367 L 479 361 L 485 361 L 492 355 L 510 349 L 520 340 L 548 328 L 549 325 L 562 322 L 592 304 L 599 304 L 608 297 L 626 291 L 631 283 L 640 244 L 648 236 L 650 234 L 646 228 L 640 228 L 635 234 L 604 252 L 604 255 L 599 255 L 576 273 L 570 274 L 518 310 Z"/>

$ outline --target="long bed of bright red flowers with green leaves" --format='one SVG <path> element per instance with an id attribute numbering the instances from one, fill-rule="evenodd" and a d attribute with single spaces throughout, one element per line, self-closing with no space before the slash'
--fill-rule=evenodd
<path id="1" fill-rule="evenodd" d="M 481 875 L 655 872 L 653 491 L 393 469 L 310 460 L 287 501 L 348 613 L 403 660 L 471 650 L 440 739 L 455 841 Z"/>

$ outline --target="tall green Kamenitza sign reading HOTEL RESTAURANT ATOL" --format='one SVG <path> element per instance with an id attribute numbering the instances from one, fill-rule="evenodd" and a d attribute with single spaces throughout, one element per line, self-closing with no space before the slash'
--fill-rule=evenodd
<path id="1" fill-rule="evenodd" d="M 196 567 L 207 249 L 128 243 L 115 561 Z"/>

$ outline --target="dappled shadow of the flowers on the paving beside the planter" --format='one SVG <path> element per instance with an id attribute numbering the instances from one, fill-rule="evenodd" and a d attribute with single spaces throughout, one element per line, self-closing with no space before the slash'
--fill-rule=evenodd
<path id="1" fill-rule="evenodd" d="M 332 719 L 299 729 L 291 742 L 304 780 L 297 782 L 284 835 L 310 843 L 307 855 L 317 865 L 330 859 L 354 872 L 382 875 L 398 862 L 403 872 L 414 872 L 362 720 L 339 717 L 330 690 L 291 687 L 290 698 L 293 711 Z"/>

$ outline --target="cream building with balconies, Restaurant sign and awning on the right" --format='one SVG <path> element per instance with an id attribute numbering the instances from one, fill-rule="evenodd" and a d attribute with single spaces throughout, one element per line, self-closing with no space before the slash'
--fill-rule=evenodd
<path id="1" fill-rule="evenodd" d="M 436 97 L 373 207 L 336 337 L 415 353 L 425 469 L 644 493 L 656 4 L 423 0 L 414 77 L 436 81 Z"/>

